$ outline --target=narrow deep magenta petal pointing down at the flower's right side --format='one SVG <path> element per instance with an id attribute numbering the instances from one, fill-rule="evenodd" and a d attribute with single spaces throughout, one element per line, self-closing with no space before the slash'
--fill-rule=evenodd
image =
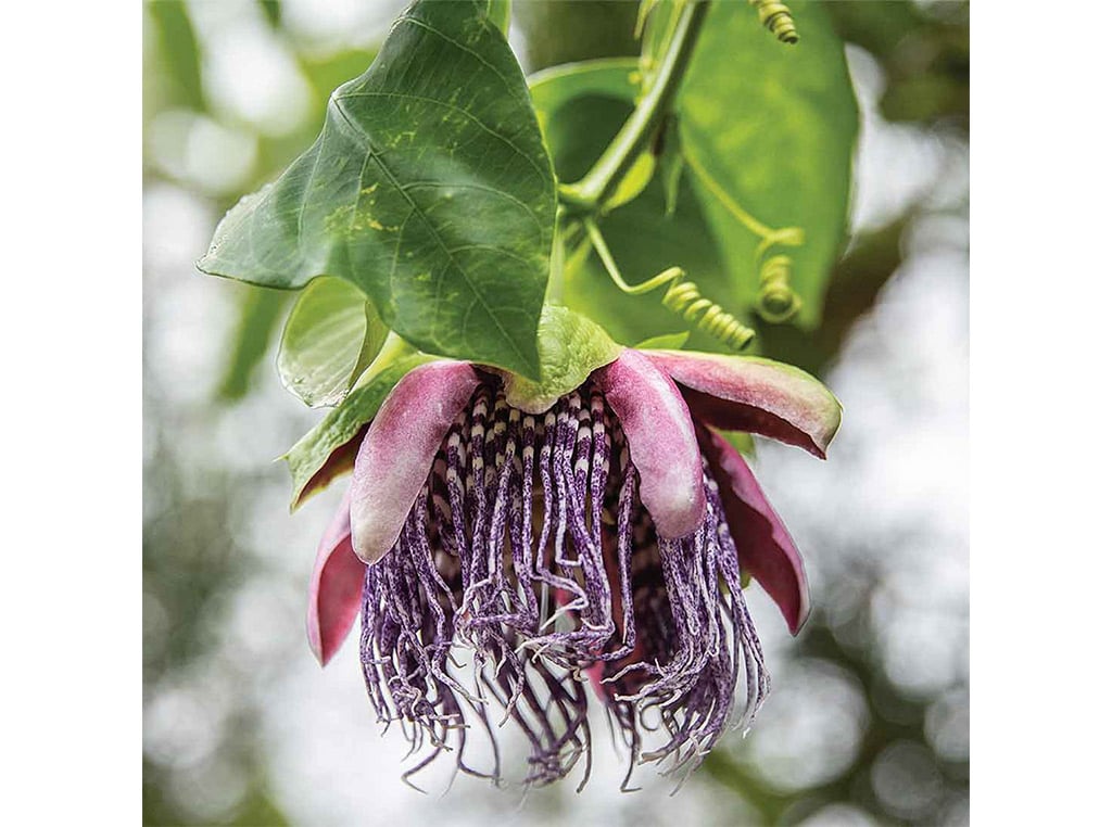
<path id="1" fill-rule="evenodd" d="M 768 592 L 796 635 L 811 614 L 800 550 L 742 455 L 709 429 L 701 428 L 699 438 L 718 484 L 729 534 L 737 544 L 737 561 Z"/>

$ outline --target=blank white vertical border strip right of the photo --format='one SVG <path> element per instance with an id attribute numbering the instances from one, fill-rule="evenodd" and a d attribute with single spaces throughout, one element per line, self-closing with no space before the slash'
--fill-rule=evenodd
<path id="1" fill-rule="evenodd" d="M 1096 824 L 1112 748 L 1112 14 L 972 10 L 972 823 Z"/>

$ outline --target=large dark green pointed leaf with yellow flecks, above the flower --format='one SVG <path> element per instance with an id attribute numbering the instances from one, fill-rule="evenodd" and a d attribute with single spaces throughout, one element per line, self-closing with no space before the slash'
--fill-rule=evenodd
<path id="1" fill-rule="evenodd" d="M 525 79 L 485 0 L 420 0 L 198 267 L 284 288 L 342 278 L 419 349 L 537 378 L 555 217 Z"/>

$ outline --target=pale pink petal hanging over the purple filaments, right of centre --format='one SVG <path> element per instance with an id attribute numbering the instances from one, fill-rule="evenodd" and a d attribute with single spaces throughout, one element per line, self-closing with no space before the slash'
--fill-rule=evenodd
<path id="1" fill-rule="evenodd" d="M 637 350 L 623 350 L 594 376 L 629 440 L 656 532 L 689 535 L 703 521 L 706 495 L 695 426 L 678 388 Z"/>

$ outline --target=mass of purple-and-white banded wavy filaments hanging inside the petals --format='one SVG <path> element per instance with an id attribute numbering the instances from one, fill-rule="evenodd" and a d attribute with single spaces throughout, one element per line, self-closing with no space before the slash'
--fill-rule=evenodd
<path id="1" fill-rule="evenodd" d="M 756 713 L 768 679 L 714 480 L 704 470 L 705 519 L 677 540 L 657 537 L 637 486 L 590 381 L 537 416 L 494 381 L 476 390 L 397 544 L 367 569 L 368 693 L 380 720 L 416 724 L 414 748 L 431 746 L 407 775 L 454 736 L 461 769 L 497 777 L 492 724 L 509 719 L 530 745 L 526 783 L 565 776 L 590 748 L 588 678 L 631 774 L 667 756 L 697 765 L 731 718 L 743 666 L 743 721 Z M 454 646 L 473 652 L 469 679 Z M 492 736 L 488 771 L 466 764 L 476 725 Z M 643 751 L 653 730 L 662 744 Z"/>

